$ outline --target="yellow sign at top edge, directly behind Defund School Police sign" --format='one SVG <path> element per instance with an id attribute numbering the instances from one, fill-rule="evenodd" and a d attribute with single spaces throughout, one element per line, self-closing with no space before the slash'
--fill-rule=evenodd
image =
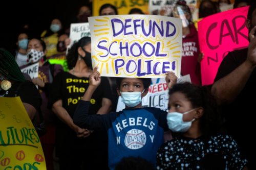
<path id="1" fill-rule="evenodd" d="M 93 0 L 93 16 L 99 16 L 99 9 L 104 4 L 114 5 L 119 15 L 128 14 L 133 8 L 139 8 L 148 14 L 148 0 Z"/>

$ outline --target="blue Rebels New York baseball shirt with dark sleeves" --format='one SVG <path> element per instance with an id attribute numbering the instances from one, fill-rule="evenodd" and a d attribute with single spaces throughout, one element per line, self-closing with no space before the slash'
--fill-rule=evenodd
<path id="1" fill-rule="evenodd" d="M 90 102 L 79 101 L 73 121 L 81 128 L 108 132 L 109 168 L 114 169 L 123 157 L 141 157 L 156 165 L 156 153 L 168 130 L 167 112 L 146 107 L 124 109 L 109 114 L 88 114 Z"/>

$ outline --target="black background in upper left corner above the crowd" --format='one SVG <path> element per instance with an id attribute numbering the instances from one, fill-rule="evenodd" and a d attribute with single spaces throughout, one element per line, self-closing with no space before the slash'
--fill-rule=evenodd
<path id="1" fill-rule="evenodd" d="M 76 21 L 79 7 L 88 4 L 88 0 L 7 0 L 2 2 L 0 47 L 15 53 L 18 33 L 25 24 L 30 26 L 31 37 L 36 38 L 40 37 L 42 31 L 49 29 L 51 20 L 54 18 L 59 18 L 64 27 L 69 27 L 70 23 Z"/>

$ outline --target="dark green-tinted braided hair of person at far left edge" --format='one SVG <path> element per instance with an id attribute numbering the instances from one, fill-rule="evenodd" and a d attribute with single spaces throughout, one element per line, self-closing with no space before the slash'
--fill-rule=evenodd
<path id="1" fill-rule="evenodd" d="M 4 48 L 0 48 L 0 74 L 8 80 L 24 82 L 25 78 L 20 71 L 15 58 Z"/>

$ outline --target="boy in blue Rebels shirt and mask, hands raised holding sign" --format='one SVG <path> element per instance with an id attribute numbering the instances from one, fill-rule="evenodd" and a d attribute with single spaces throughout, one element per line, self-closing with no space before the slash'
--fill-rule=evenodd
<path id="1" fill-rule="evenodd" d="M 118 78 L 117 92 L 125 103 L 125 109 L 106 115 L 89 115 L 91 96 L 101 81 L 96 69 L 90 76 L 90 85 L 86 93 L 77 105 L 73 117 L 74 124 L 95 130 L 95 133 L 102 129 L 108 132 L 110 169 L 114 169 L 126 156 L 140 156 L 155 164 L 157 149 L 164 142 L 163 133 L 168 127 L 167 112 L 141 106 L 141 98 L 147 94 L 151 80 Z M 177 77 L 173 72 L 168 72 L 166 81 L 170 88 L 176 83 Z"/>

